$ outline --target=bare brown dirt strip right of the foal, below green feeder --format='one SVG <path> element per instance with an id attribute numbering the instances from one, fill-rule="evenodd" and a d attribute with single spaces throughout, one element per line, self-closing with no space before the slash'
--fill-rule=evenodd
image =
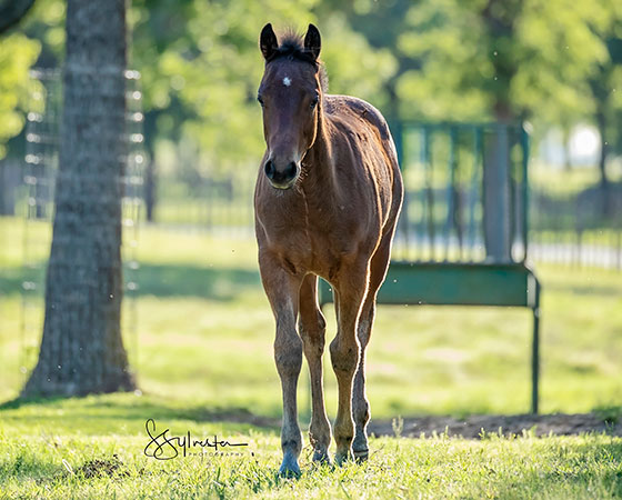
<path id="1" fill-rule="evenodd" d="M 610 419 L 598 413 L 554 413 L 516 416 L 408 417 L 394 420 L 372 420 L 368 432 L 375 436 L 407 438 L 431 437 L 445 433 L 465 439 L 481 439 L 485 434 L 521 436 L 523 431 L 542 436 L 571 436 L 588 432 L 622 437 L 621 419 Z"/>

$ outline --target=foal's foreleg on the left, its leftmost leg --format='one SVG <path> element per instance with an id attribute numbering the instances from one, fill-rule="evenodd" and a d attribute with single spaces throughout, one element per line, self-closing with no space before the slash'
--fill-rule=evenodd
<path id="1" fill-rule="evenodd" d="M 283 462 L 279 473 L 300 474 L 298 457 L 302 449 L 302 434 L 298 426 L 297 386 L 302 367 L 302 340 L 295 331 L 298 293 L 301 280 L 284 271 L 278 263 L 260 256 L 261 278 L 277 321 L 274 361 L 281 379 L 283 396 L 283 424 L 281 449 Z"/>

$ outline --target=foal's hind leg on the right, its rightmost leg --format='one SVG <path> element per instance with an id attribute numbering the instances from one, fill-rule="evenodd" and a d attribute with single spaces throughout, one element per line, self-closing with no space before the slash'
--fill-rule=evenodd
<path id="1" fill-rule="evenodd" d="M 370 404 L 365 394 L 365 350 L 371 338 L 371 329 L 375 317 L 375 297 L 389 267 L 391 253 L 391 239 L 383 238 L 381 246 L 373 254 L 370 264 L 370 284 L 365 301 L 361 309 L 361 317 L 357 334 L 361 351 L 359 366 L 354 376 L 352 390 L 352 417 L 354 419 L 355 432 L 352 442 L 352 453 L 357 461 L 365 461 L 369 457 L 369 444 L 367 426 L 370 420 Z"/>

